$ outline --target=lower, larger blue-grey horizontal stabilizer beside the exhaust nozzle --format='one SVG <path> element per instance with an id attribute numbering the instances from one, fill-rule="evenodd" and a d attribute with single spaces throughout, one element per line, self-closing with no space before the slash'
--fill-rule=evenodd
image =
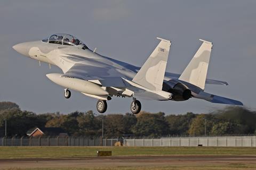
<path id="1" fill-rule="evenodd" d="M 237 101 L 237 100 L 229 99 L 229 98 L 226 98 L 226 97 L 221 97 L 221 96 L 208 94 L 207 92 L 203 92 L 203 91 L 199 92 L 199 94 L 195 95 L 194 97 L 210 101 L 211 103 L 243 106 L 243 103 L 241 101 Z"/>

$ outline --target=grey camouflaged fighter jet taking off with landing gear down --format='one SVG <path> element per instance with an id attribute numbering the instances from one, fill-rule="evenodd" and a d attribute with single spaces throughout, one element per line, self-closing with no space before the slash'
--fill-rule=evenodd
<path id="1" fill-rule="evenodd" d="M 142 67 L 100 55 L 96 49 L 89 49 L 81 40 L 65 33 L 20 43 L 13 49 L 39 62 L 60 67 L 63 73 L 50 73 L 46 77 L 65 89 L 67 99 L 71 96 L 70 89 L 98 99 L 99 113 L 107 111 L 107 100 L 113 96 L 132 98 L 133 114 L 141 111 L 138 99 L 184 101 L 198 98 L 211 103 L 243 105 L 240 101 L 204 92 L 205 83 L 228 85 L 224 81 L 206 79 L 211 42 L 199 39 L 202 45 L 186 69 L 175 74 L 165 72 L 171 41 L 157 39 L 159 44 Z"/>

